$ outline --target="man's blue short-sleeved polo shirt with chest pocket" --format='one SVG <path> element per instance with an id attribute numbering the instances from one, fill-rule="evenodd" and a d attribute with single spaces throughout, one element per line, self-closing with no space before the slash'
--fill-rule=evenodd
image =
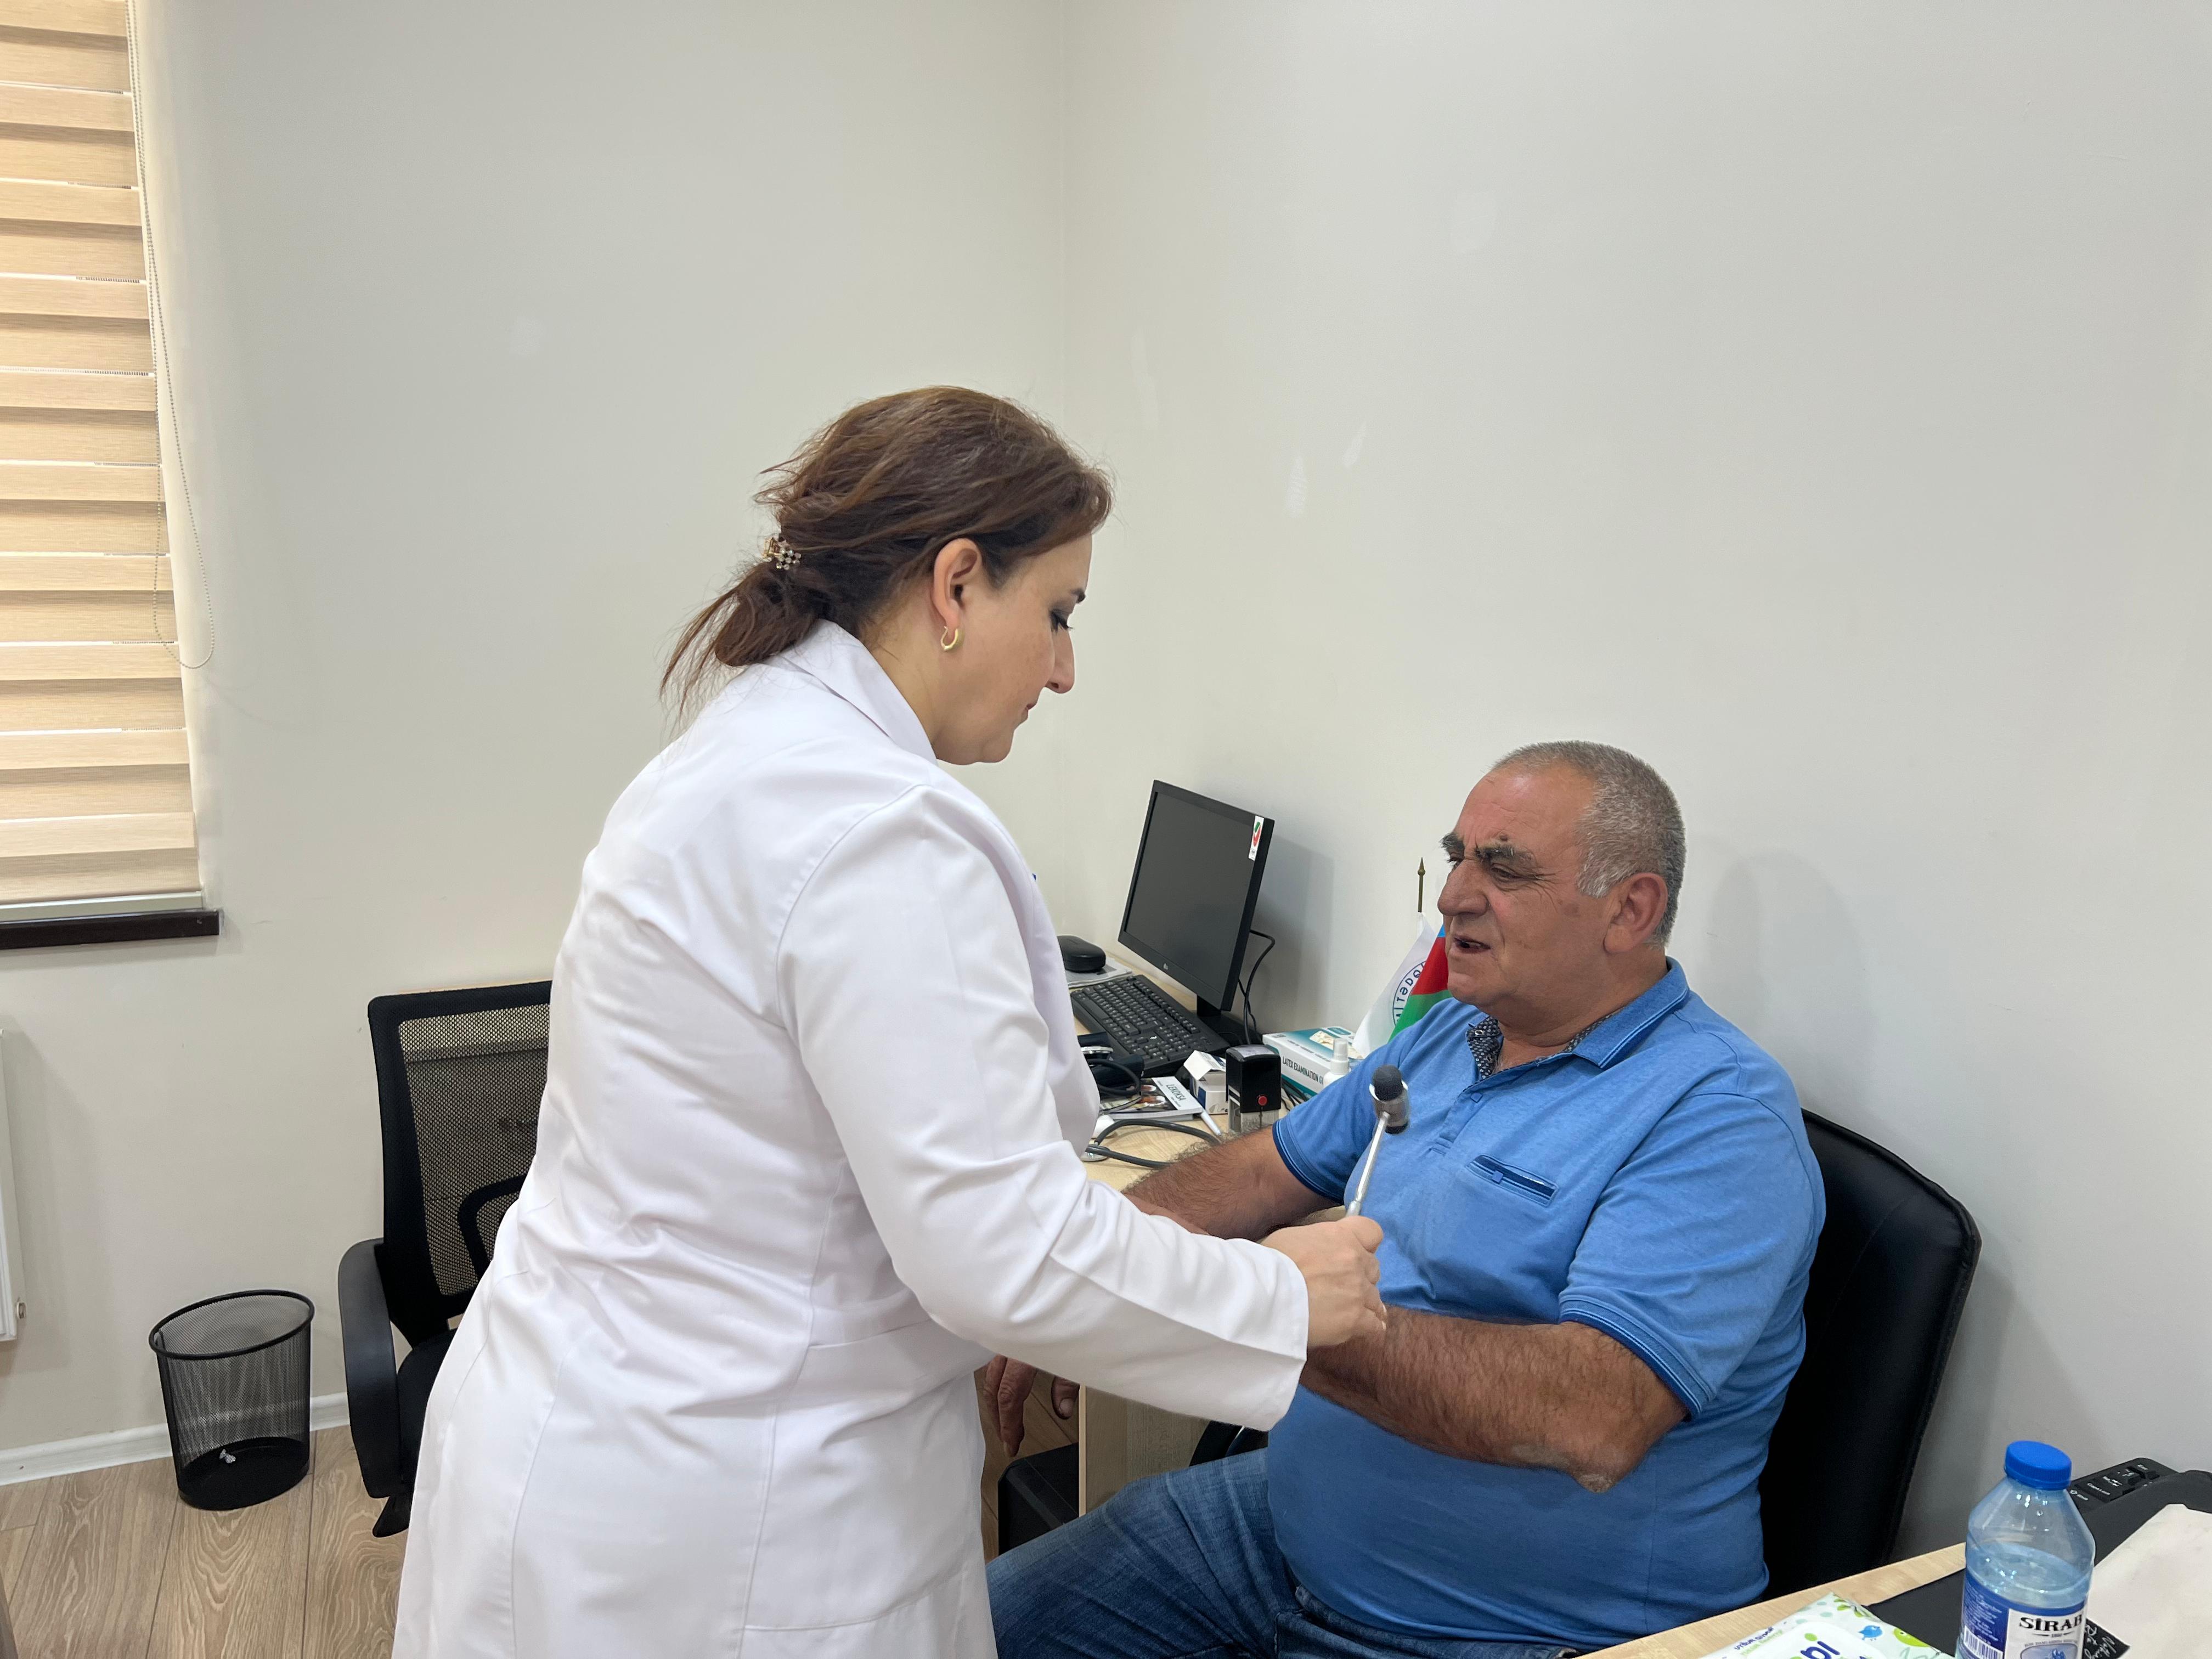
<path id="1" fill-rule="evenodd" d="M 1480 1020 L 1431 1009 L 1276 1124 L 1283 1161 L 1343 1197 L 1374 1133 L 1367 1077 L 1398 1066 L 1413 1121 L 1385 1137 L 1367 1194 L 1383 1298 L 1595 1325 L 1688 1418 L 1590 1493 L 1425 1451 L 1298 1389 L 1267 1451 L 1283 1559 L 1354 1619 L 1482 1641 L 1604 1648 L 1756 1601 L 1759 1471 L 1825 1217 L 1796 1091 L 1674 962 L 1571 1053 L 1491 1077 L 1467 1042 Z"/>

